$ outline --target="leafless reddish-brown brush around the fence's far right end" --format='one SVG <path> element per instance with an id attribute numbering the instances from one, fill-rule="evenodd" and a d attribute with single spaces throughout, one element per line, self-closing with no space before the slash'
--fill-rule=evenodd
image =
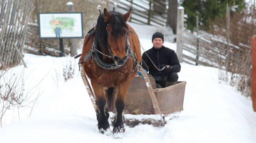
<path id="1" fill-rule="evenodd" d="M 249 12 L 233 13 L 230 18 L 230 43 L 250 46 L 251 38 L 256 33 L 256 21 Z M 218 21 L 218 22 L 216 22 Z M 215 25 L 210 33 L 215 36 L 226 37 L 226 19 L 215 19 Z M 219 79 L 234 86 L 242 95 L 252 96 L 252 57 L 251 50 L 241 51 L 226 48 L 226 71 L 219 71 Z"/>

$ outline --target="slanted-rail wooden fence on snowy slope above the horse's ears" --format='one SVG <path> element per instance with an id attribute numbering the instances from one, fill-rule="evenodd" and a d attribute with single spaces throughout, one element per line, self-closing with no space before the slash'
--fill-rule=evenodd
<path id="1" fill-rule="evenodd" d="M 163 1 L 154 0 L 125 0 L 119 1 L 117 11 L 126 13 L 132 9 L 131 22 L 148 25 L 165 26 L 167 23 L 167 9 Z"/>

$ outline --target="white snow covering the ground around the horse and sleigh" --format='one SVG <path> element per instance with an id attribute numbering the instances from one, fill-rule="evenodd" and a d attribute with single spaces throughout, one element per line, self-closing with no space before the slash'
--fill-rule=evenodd
<path id="1" fill-rule="evenodd" d="M 159 28 L 129 24 L 139 35 L 143 48 L 151 48 L 151 36 Z M 164 45 L 176 50 L 176 43 L 167 40 L 174 38 L 174 35 L 165 36 Z M 15 109 L 8 111 L 0 128 L 0 143 L 256 143 L 256 112 L 251 98 L 219 81 L 216 68 L 181 63 L 179 81 L 187 82 L 184 110 L 166 117 L 165 126 L 139 124 L 134 128 L 126 126 L 124 134 L 113 135 L 108 131 L 102 135 L 78 71 L 78 59 L 23 54 L 28 68 L 13 67 L 7 76 L 23 72 L 24 93 L 38 84 L 29 95 L 32 93 L 31 100 L 39 93 L 40 96 L 32 112 L 29 107 L 21 107 L 19 116 Z M 75 64 L 74 78 L 65 82 L 63 67 L 70 61 Z"/>

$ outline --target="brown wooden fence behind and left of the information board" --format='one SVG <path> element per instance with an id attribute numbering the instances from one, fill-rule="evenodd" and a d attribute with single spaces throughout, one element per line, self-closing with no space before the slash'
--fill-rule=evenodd
<path id="1" fill-rule="evenodd" d="M 24 51 L 35 55 L 50 55 L 54 57 L 60 56 L 60 47 L 49 40 L 39 39 L 39 28 L 36 24 L 28 24 L 26 32 Z M 63 48 L 63 53 L 70 54 L 69 49 Z M 64 54 L 64 55 L 65 55 Z"/>

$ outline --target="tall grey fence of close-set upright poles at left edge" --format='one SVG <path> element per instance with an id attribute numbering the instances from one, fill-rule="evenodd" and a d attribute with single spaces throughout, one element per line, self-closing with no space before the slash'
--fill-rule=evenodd
<path id="1" fill-rule="evenodd" d="M 0 0 L 0 69 L 23 60 L 21 53 L 32 5 L 32 0 Z"/>

